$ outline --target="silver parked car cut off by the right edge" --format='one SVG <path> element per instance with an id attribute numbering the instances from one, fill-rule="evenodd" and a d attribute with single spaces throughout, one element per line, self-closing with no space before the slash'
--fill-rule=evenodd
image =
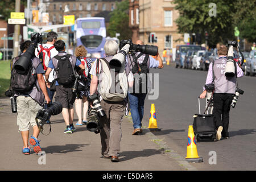
<path id="1" fill-rule="evenodd" d="M 256 50 L 250 52 L 246 59 L 245 75 L 254 76 L 256 73 Z"/>

